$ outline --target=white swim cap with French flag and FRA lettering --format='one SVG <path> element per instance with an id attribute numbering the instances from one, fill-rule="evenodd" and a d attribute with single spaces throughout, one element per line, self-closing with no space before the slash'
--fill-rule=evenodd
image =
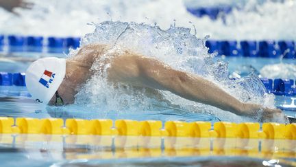
<path id="1" fill-rule="evenodd" d="M 40 58 L 32 63 L 26 71 L 27 90 L 36 102 L 48 104 L 60 87 L 66 74 L 66 59 Z"/>

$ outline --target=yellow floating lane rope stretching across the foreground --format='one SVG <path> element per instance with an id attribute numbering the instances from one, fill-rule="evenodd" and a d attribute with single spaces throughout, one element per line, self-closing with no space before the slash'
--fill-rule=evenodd
<path id="1" fill-rule="evenodd" d="M 64 126 L 65 125 L 65 126 Z M 296 124 L 258 122 L 180 122 L 156 120 L 82 120 L 60 118 L 0 118 L 0 133 L 47 135 L 119 135 L 155 137 L 222 137 L 296 140 Z"/>

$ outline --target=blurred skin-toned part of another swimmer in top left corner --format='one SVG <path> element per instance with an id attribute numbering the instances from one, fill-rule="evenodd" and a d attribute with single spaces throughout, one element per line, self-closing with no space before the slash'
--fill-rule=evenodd
<path id="1" fill-rule="evenodd" d="M 16 7 L 31 9 L 33 3 L 25 2 L 23 0 L 0 0 L 0 7 L 12 12 Z"/>

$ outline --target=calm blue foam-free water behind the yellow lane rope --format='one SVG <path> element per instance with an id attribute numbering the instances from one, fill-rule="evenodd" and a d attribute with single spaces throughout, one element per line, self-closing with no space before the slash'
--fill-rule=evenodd
<path id="1" fill-rule="evenodd" d="M 62 54 L 47 54 L 47 56 L 60 56 Z M 2 60 L 0 62 L 0 71 L 7 72 L 24 72 L 29 63 L 36 57 L 31 56 L 32 59 L 17 59 L 29 57 L 26 53 L 14 56 L 14 61 L 7 62 Z M 260 69 L 264 65 L 278 64 L 278 63 L 293 63 L 291 59 L 280 58 L 247 58 L 247 57 L 215 57 L 216 60 L 223 60 L 228 63 L 229 73 L 240 72 L 241 76 L 247 76 L 251 72 L 260 74 Z M 244 68 L 242 68 L 244 67 Z M 251 68 L 249 68 L 251 67 Z M 8 93 L 8 91 L 10 93 Z M 186 122 L 193 121 L 210 121 L 217 122 L 220 120 L 233 121 L 233 118 L 219 118 L 219 115 L 211 115 L 206 112 L 186 110 L 177 106 L 169 106 L 156 102 L 153 109 L 149 110 L 132 110 L 132 111 L 97 111 L 92 107 L 85 107 L 83 105 L 71 104 L 67 107 L 49 107 L 42 106 L 34 102 L 34 100 L 26 97 L 28 94 L 25 87 L 0 87 L 0 110 L 1 116 L 6 117 L 29 117 L 29 118 L 82 118 L 82 119 L 132 119 L 132 120 L 180 120 Z M 275 96 L 275 106 L 280 107 L 283 104 L 291 104 L 291 97 Z M 291 118 L 295 118 L 295 111 L 284 111 Z"/>

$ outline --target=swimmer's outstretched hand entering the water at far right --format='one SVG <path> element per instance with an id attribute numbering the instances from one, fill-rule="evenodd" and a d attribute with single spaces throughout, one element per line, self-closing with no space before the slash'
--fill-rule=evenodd
<path id="1" fill-rule="evenodd" d="M 244 104 L 241 115 L 257 118 L 260 122 L 288 123 L 288 117 L 280 109 L 269 109 L 258 104 Z M 284 122 L 283 122 L 284 121 Z"/>

